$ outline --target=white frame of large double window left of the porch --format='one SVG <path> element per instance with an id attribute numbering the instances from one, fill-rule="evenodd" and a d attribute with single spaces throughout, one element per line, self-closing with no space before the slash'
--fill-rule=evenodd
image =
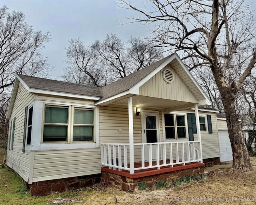
<path id="1" fill-rule="evenodd" d="M 67 125 L 67 141 L 43 141 L 44 135 L 44 125 L 54 125 L 56 123 L 44 123 L 45 117 L 45 108 L 46 107 L 63 107 L 68 108 L 68 123 L 63 123 Z M 87 109 L 94 111 L 94 131 L 93 131 L 93 141 L 74 141 L 73 142 L 73 126 L 74 126 L 74 110 L 75 109 Z M 41 144 L 66 144 L 66 143 L 96 143 L 96 108 L 95 107 L 82 107 L 77 105 L 64 105 L 64 104 L 52 104 L 52 103 L 43 103 L 43 112 L 42 112 L 42 131 L 41 131 Z M 60 123 L 58 123 L 60 125 Z"/>

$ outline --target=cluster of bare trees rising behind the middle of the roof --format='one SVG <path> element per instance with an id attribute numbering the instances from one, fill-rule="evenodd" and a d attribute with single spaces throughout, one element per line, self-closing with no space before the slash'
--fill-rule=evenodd
<path id="1" fill-rule="evenodd" d="M 150 42 L 130 38 L 125 43 L 116 34 L 107 34 L 104 41 L 90 46 L 79 39 L 69 40 L 66 51 L 68 66 L 61 77 L 90 86 L 105 86 L 163 58 L 163 50 Z"/>

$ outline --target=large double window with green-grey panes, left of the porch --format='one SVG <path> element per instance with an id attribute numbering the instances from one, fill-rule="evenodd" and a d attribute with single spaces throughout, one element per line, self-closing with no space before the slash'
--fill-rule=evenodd
<path id="1" fill-rule="evenodd" d="M 43 143 L 94 141 L 94 109 L 45 105 Z"/>

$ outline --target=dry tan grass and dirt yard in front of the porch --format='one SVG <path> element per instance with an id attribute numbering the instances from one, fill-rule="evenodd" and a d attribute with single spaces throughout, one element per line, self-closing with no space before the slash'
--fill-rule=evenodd
<path id="1" fill-rule="evenodd" d="M 147 190 L 126 193 L 115 188 L 92 191 L 87 196 L 80 193 L 74 205 L 255 205 L 256 157 L 251 157 L 254 171 L 219 169 L 206 174 L 201 183 L 194 182 L 168 190 Z"/>

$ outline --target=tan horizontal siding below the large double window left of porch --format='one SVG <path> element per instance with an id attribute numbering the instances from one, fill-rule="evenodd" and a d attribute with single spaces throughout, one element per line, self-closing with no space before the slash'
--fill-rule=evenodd
<path id="1" fill-rule="evenodd" d="M 33 181 L 101 173 L 100 149 L 36 151 Z"/>

